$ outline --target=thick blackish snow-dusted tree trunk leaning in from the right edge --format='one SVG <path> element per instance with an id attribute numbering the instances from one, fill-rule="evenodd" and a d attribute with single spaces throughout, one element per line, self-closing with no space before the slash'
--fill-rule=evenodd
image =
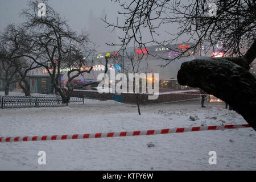
<path id="1" fill-rule="evenodd" d="M 225 101 L 256 130 L 256 77 L 229 60 L 203 57 L 182 63 L 177 80 Z"/>

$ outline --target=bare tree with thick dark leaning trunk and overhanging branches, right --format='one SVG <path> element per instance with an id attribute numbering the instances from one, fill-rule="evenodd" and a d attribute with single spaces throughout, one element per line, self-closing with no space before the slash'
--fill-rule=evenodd
<path id="1" fill-rule="evenodd" d="M 233 107 L 256 130 L 256 78 L 248 71 L 256 57 L 256 14 L 253 0 L 134 0 L 118 2 L 123 11 L 119 15 L 125 22 L 105 22 L 109 27 L 125 32 L 121 38 L 122 48 L 132 39 L 146 46 L 142 29 L 151 34 L 151 42 L 172 49 L 171 44 L 187 36 L 184 42 L 193 42 L 174 59 L 185 56 L 188 51 L 196 52 L 201 44 L 207 43 L 212 51 L 216 44 L 223 44 L 221 59 L 197 59 L 181 64 L 177 79 L 181 85 L 199 87 L 209 94 L 221 98 Z M 158 42 L 158 28 L 163 24 L 178 24 L 179 31 L 168 32 L 171 39 Z M 240 58 L 238 58 L 240 57 Z M 174 60 L 171 59 L 169 63 Z M 200 78 L 200 79 L 199 79 Z M 220 83 L 221 80 L 221 83 Z M 233 86 L 236 85 L 236 86 Z"/>

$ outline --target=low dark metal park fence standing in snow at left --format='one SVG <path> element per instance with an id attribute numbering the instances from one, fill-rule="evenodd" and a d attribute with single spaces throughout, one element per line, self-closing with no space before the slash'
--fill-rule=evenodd
<path id="1" fill-rule="evenodd" d="M 72 96 L 69 103 L 63 103 L 58 95 L 48 96 L 0 96 L 0 108 L 13 107 L 58 107 L 68 106 L 70 103 L 84 104 L 84 96 Z"/>

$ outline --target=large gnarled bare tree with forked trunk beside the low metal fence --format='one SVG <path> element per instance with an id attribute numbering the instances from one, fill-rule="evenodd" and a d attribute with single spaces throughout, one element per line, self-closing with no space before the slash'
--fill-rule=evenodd
<path id="1" fill-rule="evenodd" d="M 82 65 L 86 65 L 87 61 L 82 57 L 89 56 L 93 49 L 89 49 L 88 35 L 83 32 L 77 35 L 68 26 L 67 20 L 53 10 L 47 1 L 43 2 L 46 4 L 46 16 L 38 15 L 39 1 L 28 2 L 28 9 L 22 11 L 22 16 L 27 19 L 23 26 L 30 32 L 30 42 L 34 45 L 33 53 L 41 55 L 40 60 L 35 60 L 35 63 L 47 70 L 52 86 L 63 98 L 63 102 L 69 102 L 72 88 L 69 87 L 68 96 L 65 96 L 60 87 L 61 69 L 70 69 L 67 84 L 69 86 L 73 78 L 92 70 L 82 70 Z M 76 74 L 71 76 L 74 72 Z"/>

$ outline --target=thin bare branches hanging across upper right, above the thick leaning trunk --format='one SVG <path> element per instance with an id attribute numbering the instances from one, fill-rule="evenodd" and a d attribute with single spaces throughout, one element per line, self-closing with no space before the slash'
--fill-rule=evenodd
<path id="1" fill-rule="evenodd" d="M 255 2 L 252 0 L 192 0 L 190 2 L 115 0 L 115 2 L 121 6 L 123 11 L 118 11 L 118 15 L 124 16 L 125 21 L 120 22 L 117 19 L 117 22 L 113 23 L 105 18 L 104 22 L 108 27 L 118 28 L 125 32 L 125 35 L 119 38 L 120 44 L 112 44 L 121 46 L 121 48 L 126 48 L 133 40 L 140 47 L 146 47 L 148 42 L 154 42 L 170 49 L 172 49 L 171 44 L 180 41 L 179 38 L 184 42 L 194 43 L 187 51 L 180 51 L 180 57 L 188 51 L 196 52 L 200 44 L 205 42 L 214 51 L 214 46 L 221 40 L 225 43 L 221 51 L 224 51 L 226 56 L 245 56 L 245 52 L 255 40 L 256 15 Z M 216 7 L 212 6 L 212 3 Z M 177 33 L 166 31 L 168 39 L 158 42 L 156 39 L 159 35 L 158 29 L 164 24 L 179 24 L 179 31 Z M 148 30 L 151 35 L 151 40 L 148 42 L 145 42 L 143 38 L 142 31 L 145 30 Z M 183 38 L 184 35 L 188 35 L 186 40 Z M 246 57 L 249 59 L 249 55 Z"/>

